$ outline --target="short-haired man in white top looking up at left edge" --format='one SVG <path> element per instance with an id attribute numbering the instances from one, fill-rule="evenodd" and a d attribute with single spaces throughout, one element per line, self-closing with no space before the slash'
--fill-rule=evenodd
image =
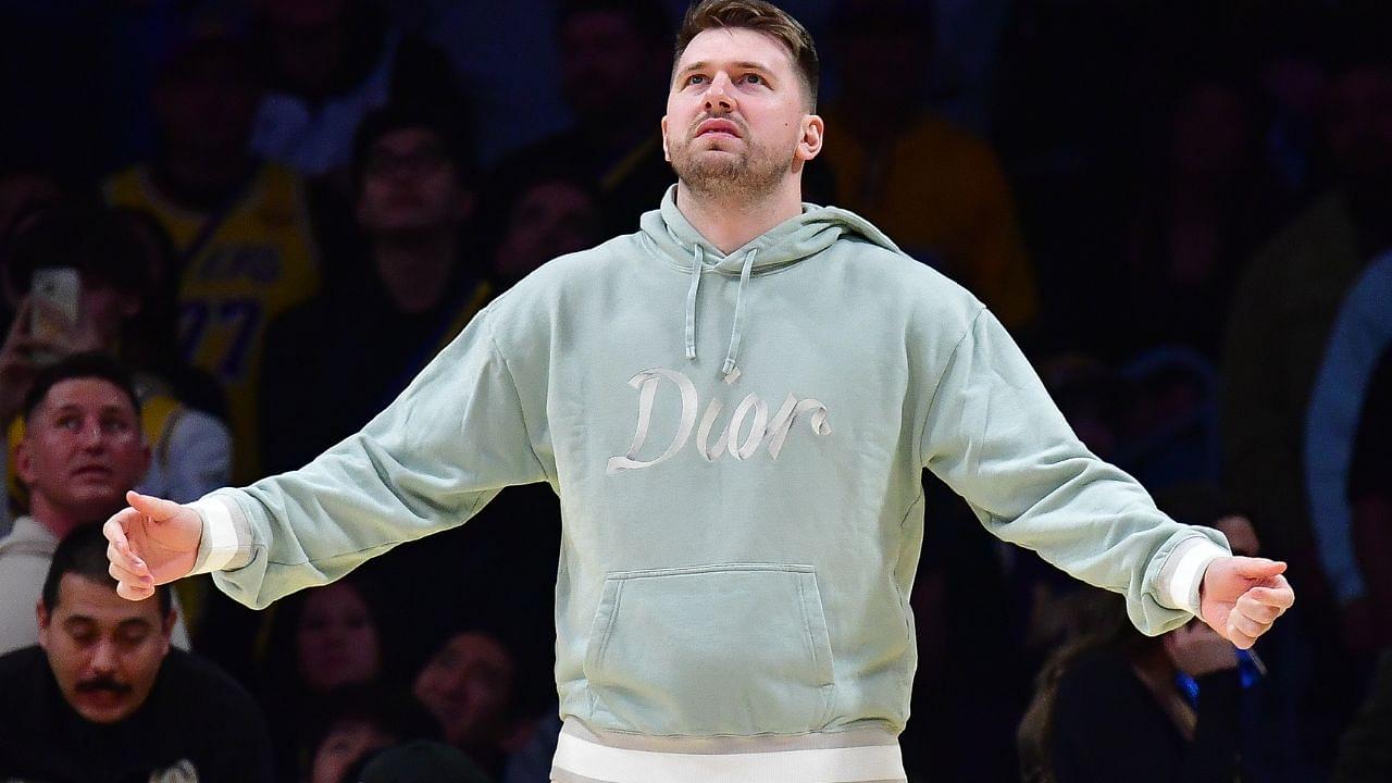
<path id="1" fill-rule="evenodd" d="M 131 376 L 100 354 L 39 371 L 24 400 L 15 474 L 29 514 L 0 538 L 0 653 L 38 641 L 33 605 L 58 541 L 121 507 L 150 464 Z M 188 648 L 182 621 L 174 644 Z"/>

